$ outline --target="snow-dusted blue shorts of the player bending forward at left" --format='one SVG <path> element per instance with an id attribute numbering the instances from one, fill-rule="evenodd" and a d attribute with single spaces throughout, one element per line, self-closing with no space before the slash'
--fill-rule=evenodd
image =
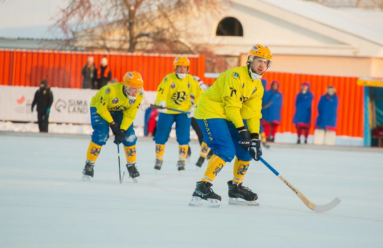
<path id="1" fill-rule="evenodd" d="M 123 118 L 122 111 L 111 111 L 110 114 L 113 118 L 113 121 L 121 125 Z M 109 138 L 109 124 L 99 114 L 97 114 L 97 109 L 95 107 L 90 107 L 90 123 L 92 124 L 93 128 L 92 142 L 97 145 L 105 145 L 106 140 Z M 132 123 L 126 130 L 125 138 L 122 143 L 124 146 L 132 146 L 136 144 L 136 141 L 137 137 L 134 133 Z"/>

